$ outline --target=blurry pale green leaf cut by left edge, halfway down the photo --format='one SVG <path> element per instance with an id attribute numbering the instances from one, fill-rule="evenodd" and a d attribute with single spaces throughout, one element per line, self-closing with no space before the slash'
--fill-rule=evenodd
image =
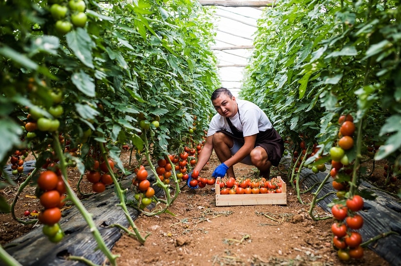
<path id="1" fill-rule="evenodd" d="M 4 161 L 7 153 L 21 143 L 22 128 L 8 117 L 0 119 L 0 162 Z"/>

